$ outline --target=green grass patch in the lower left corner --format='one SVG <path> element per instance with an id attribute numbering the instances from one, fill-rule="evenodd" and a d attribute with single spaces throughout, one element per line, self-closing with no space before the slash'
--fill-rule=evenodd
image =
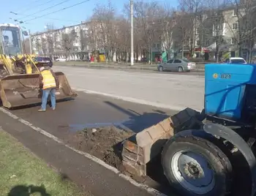
<path id="1" fill-rule="evenodd" d="M 3 129 L 0 129 L 0 148 L 1 195 L 92 196 L 48 167 Z"/>

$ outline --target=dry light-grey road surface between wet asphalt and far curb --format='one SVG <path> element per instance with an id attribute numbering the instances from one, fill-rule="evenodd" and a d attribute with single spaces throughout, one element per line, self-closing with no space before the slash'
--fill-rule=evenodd
<path id="1" fill-rule="evenodd" d="M 53 67 L 64 72 L 72 88 L 160 108 L 203 109 L 204 76 L 113 69 Z"/>

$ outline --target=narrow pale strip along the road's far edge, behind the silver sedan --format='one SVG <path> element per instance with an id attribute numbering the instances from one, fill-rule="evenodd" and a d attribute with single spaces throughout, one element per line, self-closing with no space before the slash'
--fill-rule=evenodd
<path id="1" fill-rule="evenodd" d="M 135 63 L 133 66 L 129 64 L 113 64 L 113 63 L 89 63 L 84 61 L 56 61 L 53 63 L 56 66 L 77 66 L 77 67 L 89 67 L 89 68 L 105 68 L 105 69 L 137 69 L 137 70 L 149 70 L 157 71 L 157 64 L 139 64 Z M 204 64 L 197 64 L 197 69 L 192 72 L 204 72 Z"/>

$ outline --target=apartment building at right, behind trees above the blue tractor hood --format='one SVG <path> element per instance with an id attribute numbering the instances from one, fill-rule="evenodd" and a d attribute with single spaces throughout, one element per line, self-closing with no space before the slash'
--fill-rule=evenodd
<path id="1" fill-rule="evenodd" d="M 193 37 L 195 41 L 195 53 L 210 53 L 214 56 L 219 47 L 219 53 L 223 58 L 239 55 L 239 26 L 244 25 L 241 18 L 246 18 L 244 8 L 226 7 L 221 10 L 206 10 L 197 16 Z M 240 23 L 238 21 L 240 20 Z M 256 24 L 256 23 L 255 23 Z M 241 38 L 240 38 L 241 39 Z M 246 39 L 246 38 L 243 38 Z M 243 40 L 241 56 L 248 58 L 248 42 Z M 256 55 L 255 45 L 252 55 Z M 200 56 L 197 55 L 197 56 Z"/>

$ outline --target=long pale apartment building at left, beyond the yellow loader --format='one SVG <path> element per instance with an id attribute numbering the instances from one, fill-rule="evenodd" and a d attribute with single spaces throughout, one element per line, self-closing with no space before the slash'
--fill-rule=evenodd
<path id="1" fill-rule="evenodd" d="M 91 51 L 89 26 L 89 23 L 80 23 L 33 34 L 33 53 L 40 56 L 67 56 L 70 60 L 86 59 Z"/>

